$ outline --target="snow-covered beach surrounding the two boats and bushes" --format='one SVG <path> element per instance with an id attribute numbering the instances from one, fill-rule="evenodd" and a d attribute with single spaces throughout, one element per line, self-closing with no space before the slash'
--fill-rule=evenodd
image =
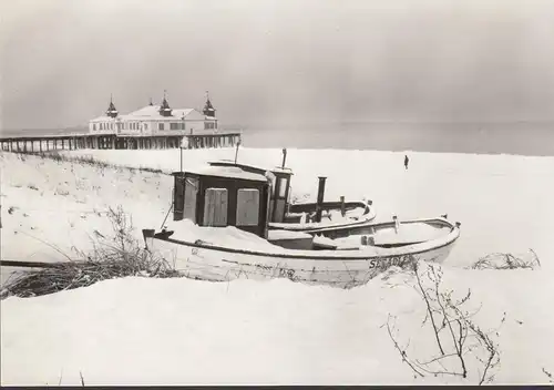
<path id="1" fill-rule="evenodd" d="M 166 216 L 173 183 L 166 173 L 179 170 L 178 150 L 63 154 L 117 167 L 2 153 L 3 259 L 61 261 L 62 253 L 85 250 L 91 237 L 110 230 L 107 206 L 124 207 L 137 237 Z M 234 155 L 232 148 L 186 150 L 184 168 Z M 547 309 L 554 296 L 554 157 L 408 155 L 404 170 L 403 152 L 289 150 L 293 197 L 315 198 L 317 176 L 324 175 L 326 199 L 372 199 L 378 220 L 448 213 L 461 222 L 443 279 L 459 296 L 472 290 L 484 328 L 506 314 L 495 383 L 547 383 L 543 368 L 554 371 L 544 348 L 554 339 Z M 277 166 L 281 151 L 240 148 L 238 160 Z M 466 269 L 488 254 L 529 248 L 541 259 L 535 270 Z M 473 383 L 414 378 L 402 363 L 382 326 L 390 314 L 402 318 L 407 337 L 421 327 L 424 306 L 406 278 L 383 275 L 351 290 L 286 279 L 124 278 L 10 297 L 1 302 L 2 384 L 79 384 L 80 372 L 86 384 Z M 412 343 L 427 350 L 432 335 Z"/>

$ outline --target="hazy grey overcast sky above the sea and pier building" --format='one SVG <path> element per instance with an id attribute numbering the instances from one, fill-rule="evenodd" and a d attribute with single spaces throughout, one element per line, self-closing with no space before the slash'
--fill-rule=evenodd
<path id="1" fill-rule="evenodd" d="M 2 127 L 554 119 L 551 0 L 0 0 Z"/>

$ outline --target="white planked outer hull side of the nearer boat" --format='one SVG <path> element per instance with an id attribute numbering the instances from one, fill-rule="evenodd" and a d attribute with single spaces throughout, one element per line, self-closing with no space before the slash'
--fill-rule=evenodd
<path id="1" fill-rule="evenodd" d="M 403 248 L 360 250 L 294 250 L 265 253 L 160 235 L 145 237 L 148 250 L 196 279 L 229 281 L 239 278 L 288 278 L 305 284 L 350 288 L 366 284 L 391 266 L 409 267 L 418 260 L 443 263 L 459 237 L 459 228 L 439 239 Z"/>

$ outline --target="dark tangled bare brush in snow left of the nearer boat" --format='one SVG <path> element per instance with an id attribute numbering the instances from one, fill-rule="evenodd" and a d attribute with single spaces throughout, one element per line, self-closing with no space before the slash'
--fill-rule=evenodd
<path id="1" fill-rule="evenodd" d="M 182 276 L 168 261 L 146 250 L 134 238 L 132 220 L 121 206 L 116 209 L 109 208 L 107 218 L 112 223 L 113 234 L 107 237 L 96 235 L 91 252 L 75 249 L 76 258 L 65 255 L 69 261 L 19 273 L 2 286 L 0 299 L 9 296 L 41 296 L 127 276 Z"/>

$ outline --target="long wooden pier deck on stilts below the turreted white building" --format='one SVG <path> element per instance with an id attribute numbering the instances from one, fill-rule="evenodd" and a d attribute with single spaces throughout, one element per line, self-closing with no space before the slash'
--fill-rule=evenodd
<path id="1" fill-rule="evenodd" d="M 0 137 L 0 150 L 34 153 L 57 150 L 150 150 L 178 148 L 187 138 L 187 148 L 233 147 L 240 142 L 239 133 L 179 134 L 179 135 L 117 135 L 79 134 Z"/>

